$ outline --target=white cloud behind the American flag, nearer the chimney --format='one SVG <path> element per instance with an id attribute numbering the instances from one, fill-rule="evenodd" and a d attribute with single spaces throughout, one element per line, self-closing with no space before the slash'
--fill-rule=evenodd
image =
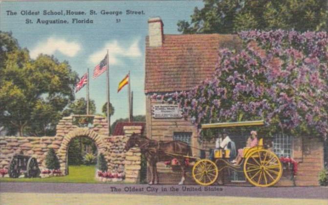
<path id="1" fill-rule="evenodd" d="M 93 64 L 99 63 L 102 59 L 104 59 L 107 49 L 109 52 L 109 64 L 111 65 L 119 64 L 118 57 L 139 57 L 141 56 L 139 41 L 140 40 L 133 41 L 133 43 L 127 47 L 123 47 L 116 40 L 107 42 L 102 49 L 89 56 L 89 61 Z"/>

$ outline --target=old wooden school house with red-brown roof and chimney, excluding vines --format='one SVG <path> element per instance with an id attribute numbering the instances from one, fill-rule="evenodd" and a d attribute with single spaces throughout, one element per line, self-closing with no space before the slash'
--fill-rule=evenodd
<path id="1" fill-rule="evenodd" d="M 167 35 L 164 34 L 164 24 L 160 18 L 149 19 L 148 24 L 145 64 L 147 137 L 154 140 L 180 140 L 200 148 L 214 147 L 214 143 L 199 143 L 196 127 L 179 115 L 177 107 L 162 104 L 151 96 L 154 93 L 189 90 L 210 78 L 214 74 L 219 49 L 241 49 L 241 40 L 237 35 Z M 244 146 L 246 137 L 246 134 L 231 136 L 237 148 Z M 273 151 L 278 157 L 292 157 L 299 163 L 296 185 L 319 185 L 318 172 L 324 167 L 322 140 L 277 133 L 273 139 Z M 199 155 L 197 149 L 193 153 Z M 175 177 L 164 164 L 158 163 L 157 169 L 160 183 L 178 182 L 179 175 Z M 242 175 L 229 173 L 230 183 L 243 181 Z"/>

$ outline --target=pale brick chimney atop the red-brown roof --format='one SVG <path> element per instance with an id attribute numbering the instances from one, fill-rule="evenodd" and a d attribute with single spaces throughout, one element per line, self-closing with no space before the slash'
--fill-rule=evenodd
<path id="1" fill-rule="evenodd" d="M 163 21 L 159 17 L 148 20 L 149 47 L 162 46 L 164 40 L 163 26 Z"/>

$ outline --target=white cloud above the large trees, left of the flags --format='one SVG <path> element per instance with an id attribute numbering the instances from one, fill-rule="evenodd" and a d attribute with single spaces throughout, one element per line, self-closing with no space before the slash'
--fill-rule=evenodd
<path id="1" fill-rule="evenodd" d="M 35 59 L 39 54 L 52 55 L 56 51 L 61 52 L 68 57 L 74 57 L 81 50 L 81 45 L 78 42 L 66 41 L 65 39 L 48 38 L 46 41 L 41 41 L 35 46 L 31 52 L 31 58 Z"/>

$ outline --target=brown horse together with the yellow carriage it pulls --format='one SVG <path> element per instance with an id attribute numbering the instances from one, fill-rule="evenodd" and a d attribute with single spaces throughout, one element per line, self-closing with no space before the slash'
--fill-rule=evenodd
<path id="1" fill-rule="evenodd" d="M 247 126 L 261 126 L 263 121 L 247 121 L 236 123 L 211 123 L 202 124 L 202 129 L 208 128 L 233 128 Z M 214 159 L 203 159 L 192 155 L 192 147 L 188 143 L 181 141 L 156 141 L 135 135 L 134 133 L 125 145 L 125 150 L 133 146 L 138 146 L 141 153 L 145 156 L 150 165 L 151 180 L 149 184 L 158 183 L 156 169 L 157 162 L 170 161 L 176 159 L 180 164 L 182 177 L 179 184 L 185 181 L 187 169 L 186 159 L 195 162 L 192 168 L 192 176 L 197 184 L 211 185 L 214 184 L 223 169 L 233 169 L 237 172 L 243 172 L 245 178 L 250 184 L 260 187 L 268 187 L 276 184 L 283 172 L 280 159 L 268 149 L 267 144 L 263 143 L 263 138 L 258 139 L 258 145 L 245 147 L 243 149 L 241 164 L 235 165 L 230 162 L 230 151 L 216 149 L 214 150 Z M 198 149 L 197 147 L 194 147 Z M 205 150 L 203 150 L 205 151 Z M 223 175 L 221 175 L 223 176 Z"/>

